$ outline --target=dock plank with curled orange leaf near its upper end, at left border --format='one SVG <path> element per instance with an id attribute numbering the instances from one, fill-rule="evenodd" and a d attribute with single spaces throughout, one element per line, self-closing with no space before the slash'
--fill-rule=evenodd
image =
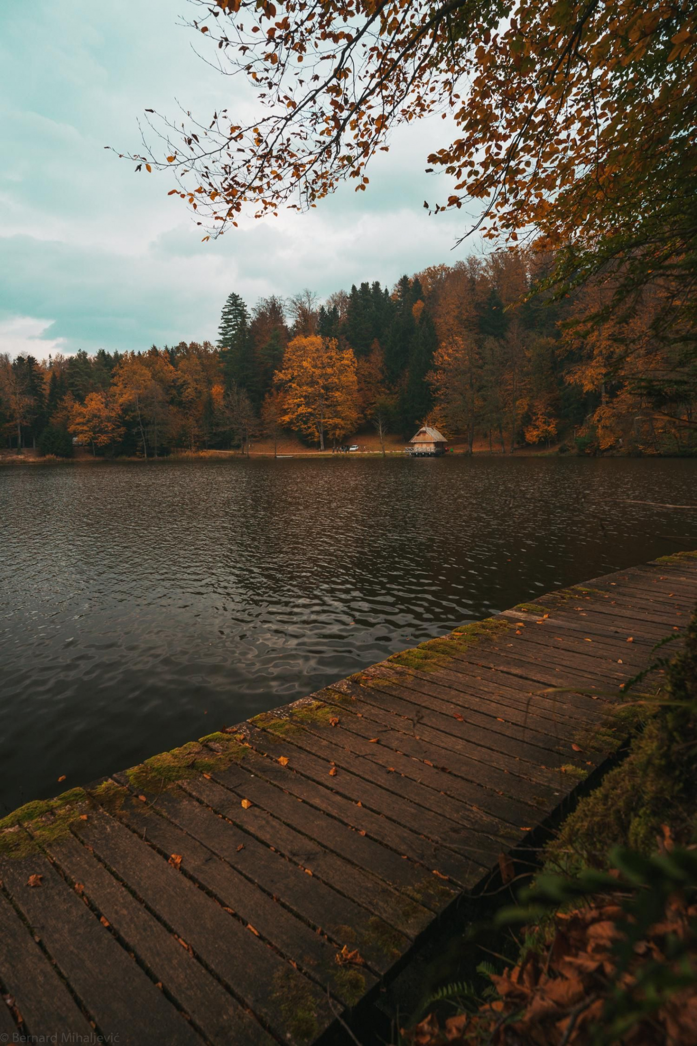
<path id="1" fill-rule="evenodd" d="M 42 877 L 38 887 L 27 885 L 33 874 Z M 0 878 L 102 1034 L 133 1046 L 202 1042 L 39 850 L 1 859 Z"/>

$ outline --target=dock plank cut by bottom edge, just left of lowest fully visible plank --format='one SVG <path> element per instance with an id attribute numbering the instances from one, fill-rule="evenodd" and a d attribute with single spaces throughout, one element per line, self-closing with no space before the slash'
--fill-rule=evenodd
<path id="1" fill-rule="evenodd" d="M 136 953 L 150 976 L 162 983 L 164 992 L 178 1001 L 209 1042 L 220 1046 L 231 1042 L 271 1046 L 274 1040 L 258 1021 L 83 843 L 69 835 L 49 843 L 47 848 L 63 873 L 73 885 L 80 884 L 83 895 L 109 920 L 126 948 Z"/>

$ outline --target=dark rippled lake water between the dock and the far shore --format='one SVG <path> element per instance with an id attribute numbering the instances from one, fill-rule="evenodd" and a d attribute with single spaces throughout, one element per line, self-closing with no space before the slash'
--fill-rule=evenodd
<path id="1" fill-rule="evenodd" d="M 0 811 L 556 586 L 697 547 L 697 461 L 0 470 Z M 59 784 L 59 776 L 65 782 Z"/>

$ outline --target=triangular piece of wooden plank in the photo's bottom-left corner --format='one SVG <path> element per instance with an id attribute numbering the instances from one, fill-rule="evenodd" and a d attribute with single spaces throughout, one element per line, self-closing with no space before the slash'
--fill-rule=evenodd
<path id="1" fill-rule="evenodd" d="M 37 1037 L 37 1042 L 41 1042 L 42 1036 L 46 1042 L 50 1042 L 49 1037 L 59 1031 L 86 1037 L 85 1041 L 89 1042 L 89 1036 L 93 1030 L 89 1021 L 33 939 L 29 928 L 2 893 L 0 893 L 0 980 L 17 1000 L 27 1031 Z M 0 1007 L 9 1016 L 2 1000 Z M 11 1036 L 18 1029 L 11 1017 L 9 1022 L 10 1026 L 0 1027 L 0 1031 L 8 1034 L 10 1037 L 8 1042 L 13 1042 Z"/>

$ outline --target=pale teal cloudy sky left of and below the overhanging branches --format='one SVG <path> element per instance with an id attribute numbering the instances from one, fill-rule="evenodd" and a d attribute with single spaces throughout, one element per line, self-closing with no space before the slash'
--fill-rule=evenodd
<path id="1" fill-rule="evenodd" d="M 367 192 L 345 186 L 309 214 L 250 219 L 202 243 L 166 174 L 136 175 L 103 149 L 137 152 L 145 108 L 171 114 L 179 99 L 207 120 L 245 100 L 241 82 L 193 53 L 202 38 L 180 24 L 187 7 L 0 4 L 0 351 L 214 340 L 231 291 L 250 305 L 305 287 L 325 297 L 463 256 L 451 250 L 463 212 L 423 209 L 437 195 L 424 167 L 445 143 L 440 118 L 395 134 Z"/>

